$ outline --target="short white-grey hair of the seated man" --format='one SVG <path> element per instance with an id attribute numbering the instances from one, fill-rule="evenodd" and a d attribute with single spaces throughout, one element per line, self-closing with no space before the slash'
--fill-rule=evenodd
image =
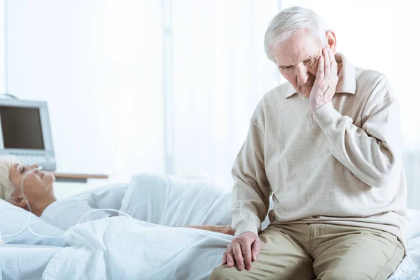
<path id="1" fill-rule="evenodd" d="M 286 8 L 274 16 L 265 31 L 264 48 L 269 60 L 276 62 L 272 49 L 286 41 L 297 29 L 309 29 L 321 45 L 327 43 L 325 33 L 328 26 L 323 18 L 309 8 Z"/>

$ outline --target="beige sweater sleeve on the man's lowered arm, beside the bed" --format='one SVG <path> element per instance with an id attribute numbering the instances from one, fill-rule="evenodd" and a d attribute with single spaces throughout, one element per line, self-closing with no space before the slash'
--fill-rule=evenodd
<path id="1" fill-rule="evenodd" d="M 232 168 L 232 228 L 235 236 L 251 231 L 258 235 L 267 216 L 269 187 L 264 165 L 264 134 L 251 121 L 248 136 Z"/>

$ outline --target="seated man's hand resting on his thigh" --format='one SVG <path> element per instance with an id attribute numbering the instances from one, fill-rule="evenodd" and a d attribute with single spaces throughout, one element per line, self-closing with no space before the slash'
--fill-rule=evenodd
<path id="1" fill-rule="evenodd" d="M 242 232 L 226 248 L 223 253 L 222 265 L 228 264 L 228 267 L 232 267 L 236 261 L 239 270 L 244 268 L 250 270 L 252 262 L 257 260 L 260 250 L 260 237 L 253 232 Z"/>

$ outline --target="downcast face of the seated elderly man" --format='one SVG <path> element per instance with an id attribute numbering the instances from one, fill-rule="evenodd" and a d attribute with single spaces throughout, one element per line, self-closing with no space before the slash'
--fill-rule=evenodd
<path id="1" fill-rule="evenodd" d="M 281 75 L 297 92 L 309 97 L 314 85 L 321 45 L 306 29 L 298 29 L 285 42 L 274 48 L 274 59 Z"/>

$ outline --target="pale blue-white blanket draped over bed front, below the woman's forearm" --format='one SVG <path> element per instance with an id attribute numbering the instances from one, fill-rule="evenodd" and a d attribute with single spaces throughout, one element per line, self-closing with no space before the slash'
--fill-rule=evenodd
<path id="1" fill-rule="evenodd" d="M 43 279 L 207 279 L 234 237 L 127 217 L 73 228 Z"/>

